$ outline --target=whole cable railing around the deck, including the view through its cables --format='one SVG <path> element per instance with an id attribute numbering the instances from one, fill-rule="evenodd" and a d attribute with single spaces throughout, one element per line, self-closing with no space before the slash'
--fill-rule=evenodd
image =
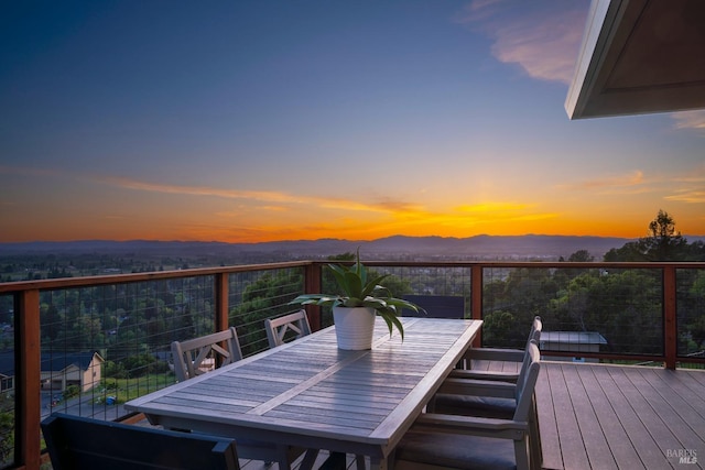
<path id="1" fill-rule="evenodd" d="M 246 356 L 265 318 L 335 293 L 323 262 L 0 284 L 0 468 L 37 469 L 39 423 L 61 411 L 123 419 L 175 382 L 170 345 L 235 326 Z M 482 319 L 477 346 L 521 347 L 534 315 L 556 360 L 705 365 L 705 263 L 366 262 L 394 295 L 454 295 Z M 314 330 L 332 324 L 307 307 Z"/>

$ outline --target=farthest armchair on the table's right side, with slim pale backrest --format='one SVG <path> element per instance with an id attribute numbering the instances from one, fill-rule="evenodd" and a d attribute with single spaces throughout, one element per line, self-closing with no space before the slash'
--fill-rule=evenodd
<path id="1" fill-rule="evenodd" d="M 509 348 L 470 348 L 465 353 L 465 369 L 455 369 L 451 372 L 449 376 L 463 378 L 463 379 L 478 379 L 478 380 L 496 380 L 503 382 L 517 382 L 519 372 L 511 371 L 492 371 L 473 369 L 474 361 L 498 361 L 510 362 L 516 368 L 517 363 L 523 363 L 528 360 L 525 354 L 527 347 L 533 340 L 536 345 L 540 345 L 541 331 L 543 329 L 543 321 L 540 316 L 535 316 L 531 323 L 531 329 L 527 338 L 524 349 L 509 349 Z M 521 368 L 521 367 L 519 367 Z"/>

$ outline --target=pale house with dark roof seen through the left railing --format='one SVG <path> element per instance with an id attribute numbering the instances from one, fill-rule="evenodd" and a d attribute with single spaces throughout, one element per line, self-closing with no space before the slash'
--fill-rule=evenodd
<path id="1" fill-rule="evenodd" d="M 77 385 L 87 392 L 100 383 L 105 359 L 97 352 L 42 354 L 42 389 L 66 390 Z"/>

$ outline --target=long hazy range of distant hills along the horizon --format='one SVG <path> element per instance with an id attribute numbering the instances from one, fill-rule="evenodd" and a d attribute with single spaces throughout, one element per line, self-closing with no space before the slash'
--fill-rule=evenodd
<path id="1" fill-rule="evenodd" d="M 697 239 L 697 238 L 696 238 Z M 408 260 L 524 260 L 568 258 L 587 250 L 596 261 L 612 248 L 633 239 L 527 234 L 516 237 L 477 236 L 469 238 L 394 236 L 372 241 L 339 239 L 292 240 L 262 243 L 193 241 L 109 241 L 0 243 L 0 256 L 28 254 L 102 254 L 133 256 L 263 256 L 268 261 L 321 259 L 354 252 L 360 248 L 367 259 Z M 688 241 L 693 241 L 688 238 Z M 250 261 L 248 261 L 250 262 Z"/>

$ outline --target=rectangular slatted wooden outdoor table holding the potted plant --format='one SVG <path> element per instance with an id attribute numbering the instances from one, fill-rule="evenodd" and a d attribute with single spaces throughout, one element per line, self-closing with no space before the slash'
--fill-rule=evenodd
<path id="1" fill-rule="evenodd" d="M 372 349 L 337 348 L 335 327 L 124 404 L 153 425 L 368 456 L 394 446 L 458 363 L 479 320 L 378 318 Z"/>

